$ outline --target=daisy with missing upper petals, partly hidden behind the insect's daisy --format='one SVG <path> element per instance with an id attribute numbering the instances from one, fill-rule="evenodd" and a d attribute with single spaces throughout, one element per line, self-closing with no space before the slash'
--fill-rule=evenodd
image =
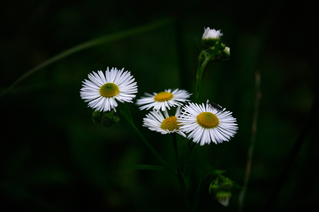
<path id="1" fill-rule="evenodd" d="M 162 134 L 167 134 L 171 132 L 177 132 L 178 134 L 186 137 L 186 135 L 179 130 L 181 127 L 181 122 L 178 122 L 177 117 L 181 113 L 181 106 L 177 107 L 175 116 L 168 116 L 167 110 L 164 110 L 165 118 L 163 117 L 160 111 L 153 109 L 149 114 L 146 115 L 146 118 L 143 118 L 144 124 L 142 126 L 148 127 L 148 129 Z"/>

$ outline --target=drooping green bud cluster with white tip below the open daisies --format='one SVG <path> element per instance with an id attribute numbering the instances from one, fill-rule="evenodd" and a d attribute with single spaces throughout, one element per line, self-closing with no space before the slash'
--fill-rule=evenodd
<path id="1" fill-rule="evenodd" d="M 232 196 L 230 189 L 233 187 L 234 182 L 226 177 L 219 175 L 215 180 L 213 180 L 209 186 L 209 194 L 213 191 L 215 193 L 216 199 L 220 204 L 228 206 L 229 199 Z"/>

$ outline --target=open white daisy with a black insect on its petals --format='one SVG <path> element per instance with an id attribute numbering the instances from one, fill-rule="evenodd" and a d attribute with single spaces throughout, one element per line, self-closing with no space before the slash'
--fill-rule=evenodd
<path id="1" fill-rule="evenodd" d="M 230 137 L 234 137 L 238 127 L 234 124 L 236 119 L 232 117 L 232 113 L 225 109 L 218 110 L 208 103 L 206 108 L 204 103 L 189 103 L 183 107 L 184 112 L 180 115 L 180 130 L 185 133 L 191 132 L 188 138 L 193 138 L 193 142 L 200 142 L 201 146 L 210 144 L 211 141 L 215 144 L 229 141 Z"/>

